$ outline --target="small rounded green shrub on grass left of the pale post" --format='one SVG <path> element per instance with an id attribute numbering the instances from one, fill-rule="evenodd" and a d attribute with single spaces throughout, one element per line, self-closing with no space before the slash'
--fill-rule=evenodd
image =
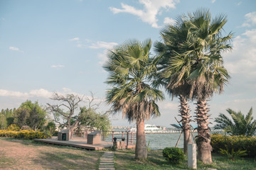
<path id="1" fill-rule="evenodd" d="M 184 153 L 178 147 L 166 147 L 163 150 L 163 156 L 171 162 L 171 164 L 179 164 L 184 160 Z"/>

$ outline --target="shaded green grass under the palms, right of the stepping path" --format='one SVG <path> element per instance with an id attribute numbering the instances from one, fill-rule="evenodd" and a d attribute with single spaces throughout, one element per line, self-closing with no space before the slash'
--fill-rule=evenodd
<path id="1" fill-rule="evenodd" d="M 256 160 L 252 158 L 240 158 L 235 161 L 226 158 L 220 154 L 212 154 L 213 164 L 205 165 L 198 162 L 198 169 L 256 169 Z M 151 150 L 148 153 L 148 160 L 146 162 L 134 161 L 134 150 L 122 150 L 115 152 L 115 165 L 116 169 L 146 169 L 146 170 L 159 170 L 159 169 L 188 169 L 187 158 L 184 162 L 178 165 L 170 164 L 162 156 L 162 150 Z"/>

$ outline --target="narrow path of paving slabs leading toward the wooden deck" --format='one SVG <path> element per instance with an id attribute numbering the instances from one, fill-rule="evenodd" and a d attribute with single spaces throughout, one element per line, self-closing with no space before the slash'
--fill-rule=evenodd
<path id="1" fill-rule="evenodd" d="M 101 169 L 114 169 L 114 153 L 113 152 L 104 152 L 102 157 L 100 157 L 100 166 Z"/>

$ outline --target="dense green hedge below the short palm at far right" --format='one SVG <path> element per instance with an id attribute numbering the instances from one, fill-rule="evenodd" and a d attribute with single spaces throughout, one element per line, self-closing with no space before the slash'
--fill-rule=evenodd
<path id="1" fill-rule="evenodd" d="M 246 150 L 249 157 L 256 157 L 256 137 L 211 135 L 210 144 L 213 152 L 220 152 L 220 149 L 240 149 Z"/>

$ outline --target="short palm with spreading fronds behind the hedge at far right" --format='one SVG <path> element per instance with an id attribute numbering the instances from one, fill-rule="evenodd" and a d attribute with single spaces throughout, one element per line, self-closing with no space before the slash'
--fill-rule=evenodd
<path id="1" fill-rule="evenodd" d="M 243 115 L 241 111 L 235 112 L 230 108 L 226 111 L 230 114 L 232 120 L 220 113 L 218 118 L 214 120 L 217 123 L 214 126 L 215 130 L 224 130 L 229 135 L 252 136 L 256 134 L 256 120 L 253 120 L 252 108 L 250 108 L 247 115 Z"/>

